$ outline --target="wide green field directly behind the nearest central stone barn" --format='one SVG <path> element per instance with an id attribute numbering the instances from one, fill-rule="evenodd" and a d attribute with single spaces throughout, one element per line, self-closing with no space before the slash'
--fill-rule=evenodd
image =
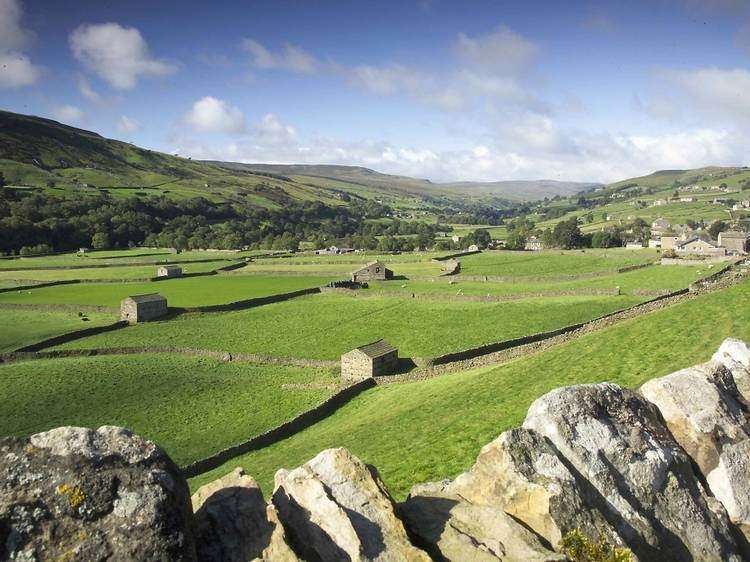
<path id="1" fill-rule="evenodd" d="M 562 297 L 487 304 L 323 294 L 238 312 L 187 314 L 77 340 L 65 347 L 150 342 L 337 359 L 354 347 L 387 338 L 403 357 L 432 357 L 574 324 L 639 300 L 626 296 Z"/>

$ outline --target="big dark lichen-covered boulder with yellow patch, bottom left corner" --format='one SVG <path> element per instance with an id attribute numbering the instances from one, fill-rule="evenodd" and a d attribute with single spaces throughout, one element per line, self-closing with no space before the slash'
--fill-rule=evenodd
<path id="1" fill-rule="evenodd" d="M 0 559 L 195 560 L 179 469 L 129 431 L 0 439 Z"/>

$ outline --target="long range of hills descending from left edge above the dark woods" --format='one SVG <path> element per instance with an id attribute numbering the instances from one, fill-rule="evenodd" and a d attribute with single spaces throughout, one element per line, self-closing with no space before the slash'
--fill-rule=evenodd
<path id="1" fill-rule="evenodd" d="M 346 205 L 375 199 L 397 209 L 460 208 L 466 203 L 508 206 L 592 189 L 597 184 L 459 182 L 381 174 L 356 166 L 270 165 L 194 161 L 64 125 L 0 111 L 0 172 L 15 189 L 61 197 L 202 196 L 278 208 L 291 202 Z"/>

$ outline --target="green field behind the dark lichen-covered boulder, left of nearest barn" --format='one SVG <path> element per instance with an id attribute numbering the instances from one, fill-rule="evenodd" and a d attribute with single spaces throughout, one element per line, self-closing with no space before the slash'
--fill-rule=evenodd
<path id="1" fill-rule="evenodd" d="M 38 360 L 0 365 L 0 435 L 63 425 L 121 425 L 188 463 L 262 433 L 327 398 L 318 369 L 178 355 Z"/>

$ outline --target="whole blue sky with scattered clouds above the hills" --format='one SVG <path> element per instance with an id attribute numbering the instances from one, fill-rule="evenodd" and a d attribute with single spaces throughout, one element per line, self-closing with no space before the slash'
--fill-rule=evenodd
<path id="1" fill-rule="evenodd" d="M 750 164 L 750 0 L 0 0 L 0 108 L 433 181 Z"/>

